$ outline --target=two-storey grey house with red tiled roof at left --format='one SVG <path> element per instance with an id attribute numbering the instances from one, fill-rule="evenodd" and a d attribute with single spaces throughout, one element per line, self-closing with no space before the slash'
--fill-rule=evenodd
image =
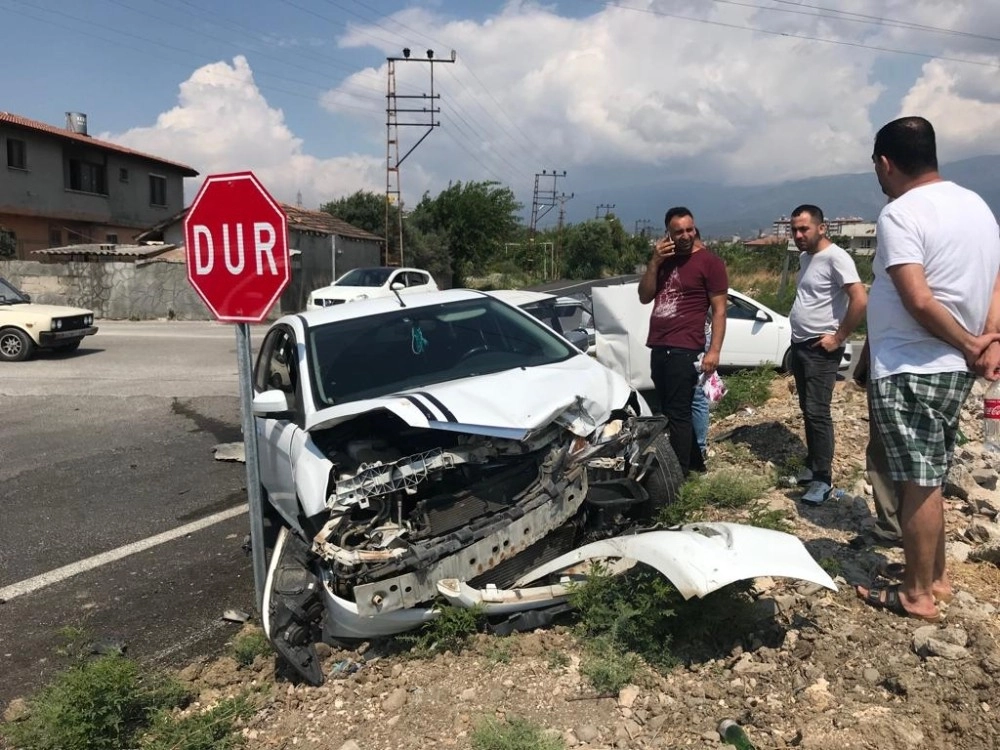
<path id="1" fill-rule="evenodd" d="M 184 207 L 196 172 L 87 134 L 86 115 L 65 127 L 0 111 L 0 257 L 78 244 L 130 243 Z"/>

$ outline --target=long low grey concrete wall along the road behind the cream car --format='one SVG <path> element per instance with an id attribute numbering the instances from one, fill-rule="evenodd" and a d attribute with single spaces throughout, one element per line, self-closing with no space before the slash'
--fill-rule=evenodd
<path id="1" fill-rule="evenodd" d="M 0 276 L 33 302 L 73 305 L 98 318 L 209 320 L 183 263 L 38 263 L 0 261 Z"/>

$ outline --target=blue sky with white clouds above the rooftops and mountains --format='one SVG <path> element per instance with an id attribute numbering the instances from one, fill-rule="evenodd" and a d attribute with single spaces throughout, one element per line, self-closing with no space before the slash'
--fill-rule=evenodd
<path id="1" fill-rule="evenodd" d="M 307 206 L 384 189 L 403 46 L 458 53 L 435 66 L 442 127 L 403 166 L 409 205 L 480 179 L 530 205 L 546 168 L 566 192 L 858 172 L 901 114 L 935 123 L 945 160 L 1000 150 L 1000 3 L 981 0 L 0 0 L 0 18 L 0 110 L 85 112 L 92 135 L 253 169 Z M 426 65 L 397 72 L 428 90 Z"/>

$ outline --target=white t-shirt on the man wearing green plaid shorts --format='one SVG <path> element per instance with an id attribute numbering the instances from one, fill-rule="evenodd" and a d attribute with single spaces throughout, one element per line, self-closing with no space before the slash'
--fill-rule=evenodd
<path id="1" fill-rule="evenodd" d="M 923 266 L 934 298 L 967 331 L 979 335 L 1000 272 L 1000 228 L 993 212 L 971 190 L 932 182 L 883 208 L 877 232 L 875 282 L 868 296 L 872 377 L 967 371 L 962 352 L 906 311 L 886 269 Z"/>

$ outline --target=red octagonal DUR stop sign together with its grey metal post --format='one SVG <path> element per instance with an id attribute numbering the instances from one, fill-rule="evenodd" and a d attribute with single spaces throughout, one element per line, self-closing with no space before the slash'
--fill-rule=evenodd
<path id="1" fill-rule="evenodd" d="M 264 503 L 253 417 L 249 323 L 260 323 L 288 286 L 288 222 L 252 172 L 210 175 L 184 219 L 187 277 L 216 320 L 236 324 L 240 423 L 250 504 L 254 593 L 261 612 Z"/>

